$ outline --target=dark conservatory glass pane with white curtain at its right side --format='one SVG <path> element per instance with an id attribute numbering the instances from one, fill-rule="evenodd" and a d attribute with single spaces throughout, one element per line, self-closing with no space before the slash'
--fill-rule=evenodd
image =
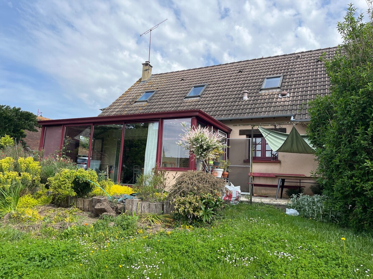
<path id="1" fill-rule="evenodd" d="M 158 122 L 126 124 L 120 181 L 135 184 L 139 174 L 156 166 Z"/>

